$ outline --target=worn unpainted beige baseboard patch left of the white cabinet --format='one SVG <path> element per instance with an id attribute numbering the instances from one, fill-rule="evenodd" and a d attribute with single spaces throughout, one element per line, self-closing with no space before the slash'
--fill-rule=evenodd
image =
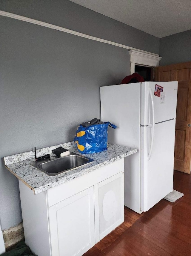
<path id="1" fill-rule="evenodd" d="M 23 223 L 21 222 L 14 227 L 3 230 L 3 239 L 6 250 L 21 240 L 24 240 Z"/>

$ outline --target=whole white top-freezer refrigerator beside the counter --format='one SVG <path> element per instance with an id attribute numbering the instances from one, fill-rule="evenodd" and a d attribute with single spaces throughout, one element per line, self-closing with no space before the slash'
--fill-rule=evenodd
<path id="1" fill-rule="evenodd" d="M 137 149 L 124 171 L 124 204 L 137 213 L 173 189 L 177 89 L 177 81 L 100 87 L 101 119 L 117 125 L 108 142 Z"/>

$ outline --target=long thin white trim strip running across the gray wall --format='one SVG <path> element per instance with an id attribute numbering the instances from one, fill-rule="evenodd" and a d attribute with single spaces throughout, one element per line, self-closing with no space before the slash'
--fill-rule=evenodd
<path id="1" fill-rule="evenodd" d="M 134 50 L 134 51 L 138 51 L 138 52 L 142 52 L 142 53 L 146 53 L 146 54 L 151 54 L 153 56 L 155 56 L 155 55 L 158 56 L 155 53 L 142 51 L 142 50 L 139 50 L 139 49 L 127 46 L 127 45 L 123 45 L 123 44 L 120 44 L 120 43 L 115 43 L 115 42 L 108 41 L 108 40 L 98 38 L 98 37 L 93 37 L 93 36 L 83 34 L 83 33 L 80 33 L 80 32 L 74 31 L 74 30 L 59 27 L 59 26 L 56 26 L 56 25 L 53 25 L 53 24 L 50 24 L 50 23 L 46 23 L 46 22 L 43 22 L 43 21 L 36 20 L 36 19 L 27 18 L 27 17 L 20 16 L 20 15 L 14 14 L 14 13 L 9 13 L 9 12 L 5 12 L 5 11 L 0 10 L 0 16 L 5 16 L 5 17 L 12 18 L 12 19 L 22 20 L 22 21 L 29 22 L 29 23 L 32 23 L 32 24 L 36 24 L 36 25 L 40 25 L 40 26 L 43 26 L 43 27 L 52 28 L 52 29 L 56 29 L 56 30 L 59 30 L 59 31 L 62 31 L 62 32 L 73 34 L 73 35 L 76 35 L 76 36 L 79 36 L 79 37 L 85 37 L 87 39 L 91 39 L 91 40 L 98 41 L 98 42 L 101 42 L 101 43 L 108 43 L 108 44 L 118 46 L 118 47 L 121 47 L 121 48 Z"/>

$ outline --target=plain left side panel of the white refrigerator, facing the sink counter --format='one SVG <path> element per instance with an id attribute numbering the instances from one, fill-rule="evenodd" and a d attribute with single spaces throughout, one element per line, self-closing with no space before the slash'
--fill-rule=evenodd
<path id="1" fill-rule="evenodd" d="M 101 120 L 117 125 L 108 129 L 108 142 L 137 149 L 124 159 L 124 204 L 137 213 L 141 213 L 140 89 L 140 83 L 100 87 Z"/>

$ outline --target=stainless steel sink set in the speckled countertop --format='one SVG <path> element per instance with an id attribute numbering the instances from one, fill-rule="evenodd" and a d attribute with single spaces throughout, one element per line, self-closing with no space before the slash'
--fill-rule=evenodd
<path id="1" fill-rule="evenodd" d="M 85 156 L 81 156 L 75 153 L 70 153 L 68 156 L 62 156 L 60 158 L 51 160 L 41 160 L 30 162 L 30 165 L 43 171 L 49 176 L 54 176 L 65 171 L 72 170 L 81 165 L 93 162 L 94 160 Z"/>

